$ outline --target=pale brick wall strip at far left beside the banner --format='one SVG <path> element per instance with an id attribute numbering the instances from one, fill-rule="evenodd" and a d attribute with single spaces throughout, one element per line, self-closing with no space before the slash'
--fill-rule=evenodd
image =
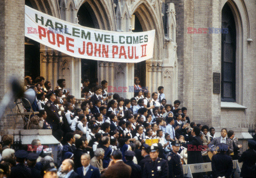
<path id="1" fill-rule="evenodd" d="M 24 1 L 0 1 L 0 99 L 9 90 L 10 76 L 24 77 L 24 14 Z M 1 118 L 0 130 L 13 127 L 16 120 Z"/>

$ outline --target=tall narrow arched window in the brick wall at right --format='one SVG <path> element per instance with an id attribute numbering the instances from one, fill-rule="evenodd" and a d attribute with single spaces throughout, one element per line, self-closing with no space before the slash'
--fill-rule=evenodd
<path id="1" fill-rule="evenodd" d="M 236 101 L 236 24 L 226 3 L 221 12 L 221 101 Z"/>

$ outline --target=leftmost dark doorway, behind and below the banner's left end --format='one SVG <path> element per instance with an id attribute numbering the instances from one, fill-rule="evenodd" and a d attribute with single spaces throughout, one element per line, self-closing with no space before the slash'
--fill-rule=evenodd
<path id="1" fill-rule="evenodd" d="M 33 8 L 29 0 L 25 4 Z M 25 76 L 33 80 L 40 76 L 40 43 L 25 37 Z"/>

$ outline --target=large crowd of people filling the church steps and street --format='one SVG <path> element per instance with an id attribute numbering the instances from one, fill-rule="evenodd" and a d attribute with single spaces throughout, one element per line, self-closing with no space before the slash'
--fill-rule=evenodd
<path id="1" fill-rule="evenodd" d="M 39 114 L 26 127 L 51 129 L 60 142 L 57 155 L 43 149 L 40 140 L 15 151 L 12 135 L 4 135 L 0 178 L 183 177 L 183 164 L 209 162 L 211 173 L 194 173 L 193 177 L 231 177 L 236 159 L 243 161 L 241 176 L 255 176 L 255 141 L 250 140 L 249 149 L 239 157 L 242 145 L 234 131 L 223 128 L 216 137 L 213 127 L 190 122 L 179 100 L 173 105 L 166 102 L 163 86 L 150 93 L 135 77 L 134 97 L 124 99 L 108 93 L 106 80 L 99 84 L 83 79 L 84 101 L 79 108 L 65 79 L 59 79 L 53 89 L 44 77 L 33 82 L 26 76 L 28 88 L 36 92 L 31 107 Z"/>

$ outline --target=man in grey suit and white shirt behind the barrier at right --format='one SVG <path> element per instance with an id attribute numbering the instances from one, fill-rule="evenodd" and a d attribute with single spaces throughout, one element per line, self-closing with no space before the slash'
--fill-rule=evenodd
<path id="1" fill-rule="evenodd" d="M 209 147 L 211 147 L 211 145 L 217 145 L 219 143 L 225 143 L 228 145 L 228 151 L 226 152 L 226 154 L 229 156 L 231 152 L 233 152 L 233 141 L 230 140 L 227 137 L 228 131 L 227 128 L 222 128 L 221 130 L 221 136 L 220 137 L 216 137 L 214 138 L 211 143 L 209 144 Z"/>

